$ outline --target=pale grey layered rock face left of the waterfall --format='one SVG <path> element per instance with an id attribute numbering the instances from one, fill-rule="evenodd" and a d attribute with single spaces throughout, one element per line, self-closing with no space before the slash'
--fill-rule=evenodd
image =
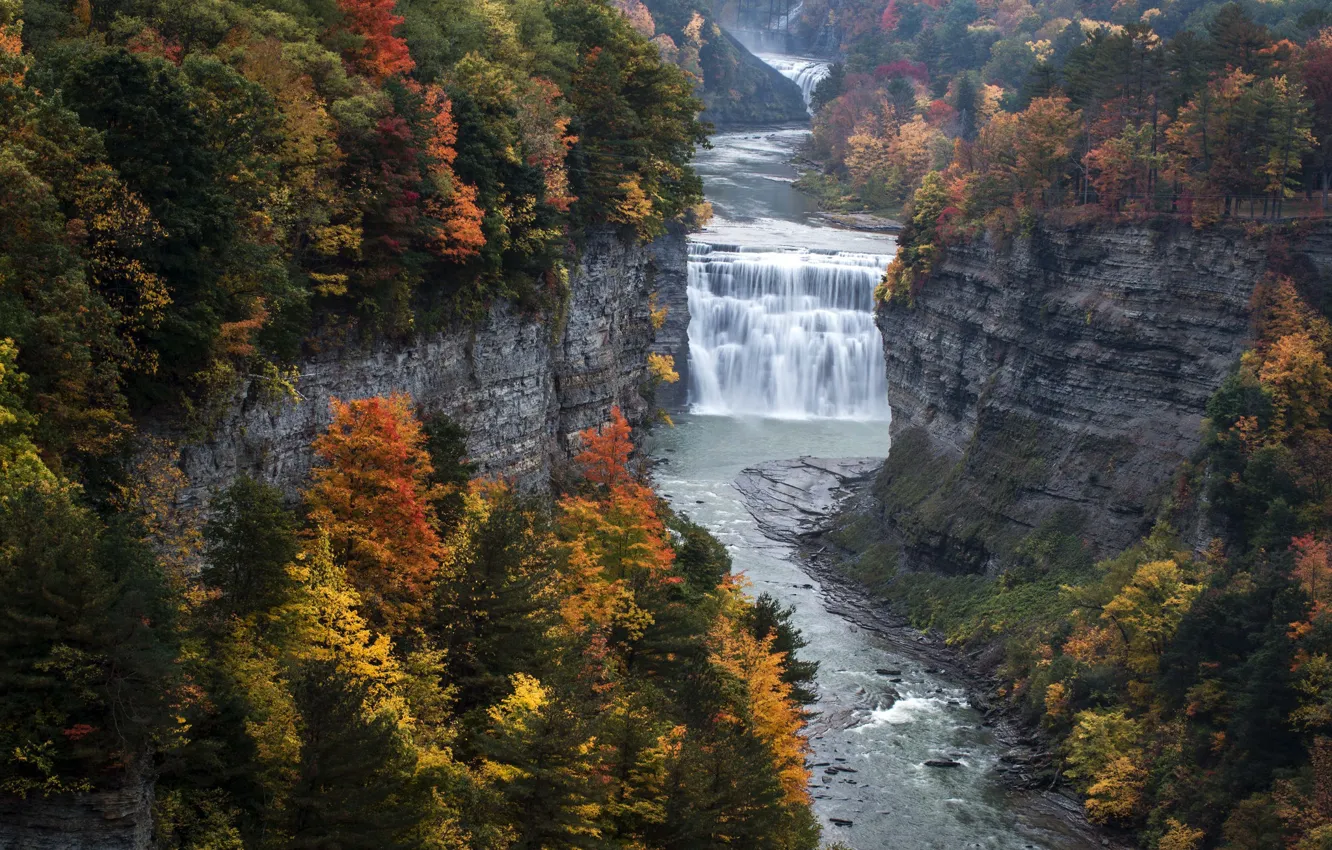
<path id="1" fill-rule="evenodd" d="M 643 421 L 654 336 L 649 294 L 654 280 L 670 272 L 659 266 L 677 254 L 683 276 L 682 233 L 642 245 L 597 232 L 571 274 L 563 316 L 498 304 L 476 328 L 313 357 L 301 364 L 300 402 L 264 398 L 249 388 L 209 441 L 182 449 L 190 482 L 182 506 L 205 505 L 213 490 L 242 473 L 294 494 L 309 477 L 310 442 L 332 421 L 329 401 L 396 392 L 466 428 L 481 474 L 526 489 L 546 486 L 577 433 L 605 422 L 613 405 L 631 422 Z"/>

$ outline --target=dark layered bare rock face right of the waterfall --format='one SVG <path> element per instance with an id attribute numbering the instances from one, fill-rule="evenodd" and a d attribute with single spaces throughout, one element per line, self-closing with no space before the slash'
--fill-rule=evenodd
<path id="1" fill-rule="evenodd" d="M 1327 264 L 1328 242 L 1295 250 Z M 1243 233 L 1187 226 L 950 248 L 914 305 L 876 316 L 894 445 L 874 490 L 902 566 L 992 569 L 1060 509 L 1099 554 L 1134 542 L 1200 442 L 1265 268 Z"/>

